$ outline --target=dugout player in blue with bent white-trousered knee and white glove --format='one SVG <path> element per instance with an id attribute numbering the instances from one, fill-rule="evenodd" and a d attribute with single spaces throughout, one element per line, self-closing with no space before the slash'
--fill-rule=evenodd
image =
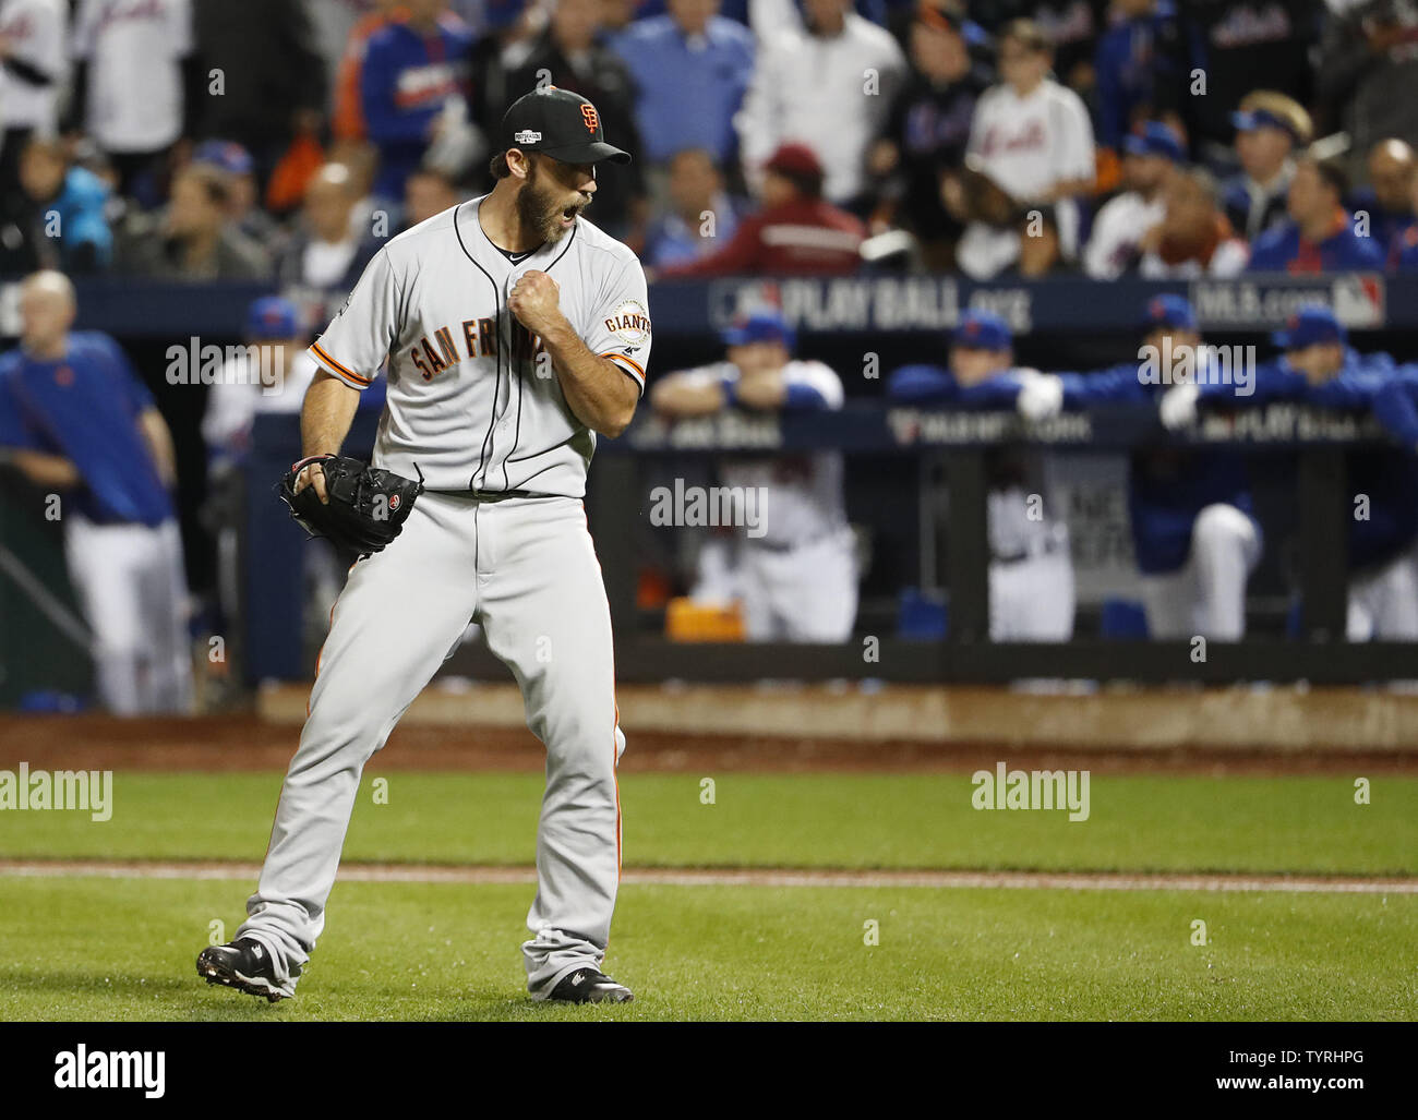
<path id="1" fill-rule="evenodd" d="M 1156 381 L 1144 379 L 1141 352 L 1136 362 L 1095 373 L 1045 374 L 1024 387 L 1020 411 L 1042 420 L 1061 408 L 1156 401 L 1157 387 L 1171 384 L 1184 360 L 1210 369 L 1197 313 L 1181 296 L 1153 299 L 1143 329 L 1144 347 L 1170 354 L 1166 376 L 1159 370 Z M 1234 386 L 1217 381 L 1215 388 Z M 1245 637 L 1245 586 L 1261 559 L 1245 459 L 1228 451 L 1139 448 L 1129 466 L 1127 505 L 1151 637 Z"/>

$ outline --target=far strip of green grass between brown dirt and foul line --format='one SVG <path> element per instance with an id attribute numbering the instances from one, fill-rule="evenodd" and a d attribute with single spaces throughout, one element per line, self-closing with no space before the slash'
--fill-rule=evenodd
<path id="1" fill-rule="evenodd" d="M 345 858 L 530 863 L 540 774 L 366 774 Z M 966 774 L 621 780 L 627 866 L 1418 873 L 1418 778 L 1095 777 L 1092 814 L 977 811 Z M 0 858 L 259 859 L 277 774 L 115 775 L 111 821 L 0 812 Z"/>

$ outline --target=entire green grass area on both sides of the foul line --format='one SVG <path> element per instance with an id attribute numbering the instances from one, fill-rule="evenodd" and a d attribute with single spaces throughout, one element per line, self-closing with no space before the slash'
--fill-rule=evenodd
<path id="1" fill-rule="evenodd" d="M 349 861 L 529 863 L 537 774 L 366 775 Z M 708 777 L 708 775 L 706 775 Z M 1096 777 L 1092 815 L 976 811 L 966 774 L 627 774 L 628 866 L 1418 873 L 1418 780 Z M 115 812 L 0 812 L 0 858 L 258 861 L 277 774 L 115 778 Z M 251 883 L 0 876 L 0 1019 L 1412 1019 L 1418 896 L 649 886 L 625 1008 L 533 1005 L 530 886 L 336 885 L 295 1001 L 208 988 Z M 879 923 L 879 946 L 864 923 Z M 1191 923 L 1210 943 L 1193 946 Z"/>

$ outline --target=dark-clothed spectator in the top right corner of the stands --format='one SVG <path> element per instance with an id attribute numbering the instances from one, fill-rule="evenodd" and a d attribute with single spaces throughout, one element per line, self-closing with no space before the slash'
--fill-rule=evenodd
<path id="1" fill-rule="evenodd" d="M 1316 103 L 1326 132 L 1349 133 L 1349 173 L 1363 176 L 1380 140 L 1418 147 L 1418 4 L 1407 0 L 1330 4 L 1316 65 Z"/>

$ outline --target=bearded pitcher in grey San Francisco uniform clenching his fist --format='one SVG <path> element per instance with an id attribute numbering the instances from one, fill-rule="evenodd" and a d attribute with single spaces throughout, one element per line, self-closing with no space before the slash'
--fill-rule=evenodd
<path id="1" fill-rule="evenodd" d="M 512 669 L 546 744 L 537 892 L 522 947 L 533 999 L 624 1002 L 601 973 L 620 882 L 611 620 L 581 496 L 597 432 L 617 435 L 645 388 L 645 278 L 581 217 L 605 143 L 584 98 L 554 86 L 502 121 L 492 191 L 393 238 L 311 346 L 296 486 L 329 500 L 339 451 L 383 369 L 374 461 L 421 476 L 403 534 L 359 560 L 335 607 L 271 846 L 235 941 L 207 948 L 210 982 L 275 1002 L 325 927 L 340 846 L 370 756 L 468 621 Z"/>

